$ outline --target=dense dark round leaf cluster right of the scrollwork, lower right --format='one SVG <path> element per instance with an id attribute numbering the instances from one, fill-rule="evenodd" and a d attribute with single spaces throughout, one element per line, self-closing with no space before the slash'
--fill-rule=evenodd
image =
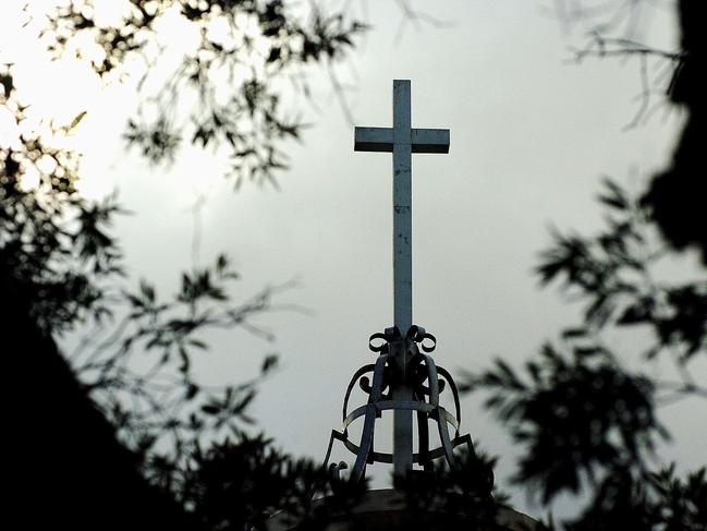
<path id="1" fill-rule="evenodd" d="M 667 435 L 654 417 L 651 382 L 621 371 L 601 348 L 576 346 L 563 355 L 546 345 L 525 373 L 524 381 L 497 360 L 468 387 L 490 391 L 486 407 L 527 451 L 514 481 L 544 503 L 576 494 L 584 480 L 645 469 L 654 439 Z"/>

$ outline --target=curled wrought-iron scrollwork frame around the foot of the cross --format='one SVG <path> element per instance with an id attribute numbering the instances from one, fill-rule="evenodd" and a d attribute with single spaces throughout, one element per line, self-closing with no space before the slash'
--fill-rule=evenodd
<path id="1" fill-rule="evenodd" d="M 413 462 L 419 463 L 425 470 L 434 470 L 434 461 L 444 459 L 450 468 L 458 467 L 454 449 L 465 445 L 470 455 L 474 455 L 471 435 L 460 435 L 461 407 L 456 385 L 447 370 L 437 366 L 431 355 L 437 347 L 437 339 L 423 327 L 413 325 L 403 337 L 398 327 L 386 328 L 383 333 L 370 336 L 368 348 L 378 353 L 375 363 L 358 369 L 351 378 L 344 396 L 342 424 L 339 431 L 332 430 L 325 458 L 325 467 L 329 467 L 332 486 L 342 481 L 341 471 L 349 468 L 348 463 L 329 464 L 334 441 L 356 456 L 351 468 L 349 481 L 359 481 L 365 476 L 366 466 L 374 462 L 392 463 L 393 456 L 388 452 L 375 451 L 374 433 L 376 420 L 387 410 L 415 411 L 417 417 L 417 434 L 419 451 L 413 455 Z M 401 351 L 402 349 L 402 351 Z M 394 353 L 405 357 L 405 370 L 402 371 Z M 413 389 L 413 400 L 393 400 L 390 387 L 392 382 L 405 379 L 405 385 Z M 358 384 L 368 395 L 367 403 L 349 411 L 349 399 L 352 390 Z M 439 403 L 439 395 L 449 389 L 454 399 L 454 414 Z M 386 393 L 388 390 L 388 393 Z M 349 426 L 363 418 L 361 441 L 354 443 L 349 437 Z M 429 447 L 428 421 L 437 423 L 440 446 Z M 450 435 L 450 427 L 453 434 Z"/>

